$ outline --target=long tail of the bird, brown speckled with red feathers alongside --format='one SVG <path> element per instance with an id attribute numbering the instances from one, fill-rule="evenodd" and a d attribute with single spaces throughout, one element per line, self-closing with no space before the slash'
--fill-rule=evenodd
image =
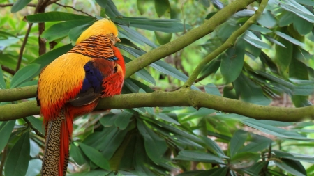
<path id="1" fill-rule="evenodd" d="M 64 176 L 68 168 L 70 134 L 73 120 L 61 109 L 58 117 L 46 122 L 46 141 L 42 176 Z"/>

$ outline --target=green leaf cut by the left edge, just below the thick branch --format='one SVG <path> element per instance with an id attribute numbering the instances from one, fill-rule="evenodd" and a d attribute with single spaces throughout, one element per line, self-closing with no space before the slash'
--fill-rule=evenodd
<path id="1" fill-rule="evenodd" d="M 1 136 L 0 151 L 2 151 L 4 147 L 6 147 L 6 144 L 8 143 L 8 140 L 10 138 L 14 125 L 15 125 L 15 120 L 10 120 L 10 121 L 1 123 L 0 125 L 0 136 Z"/>

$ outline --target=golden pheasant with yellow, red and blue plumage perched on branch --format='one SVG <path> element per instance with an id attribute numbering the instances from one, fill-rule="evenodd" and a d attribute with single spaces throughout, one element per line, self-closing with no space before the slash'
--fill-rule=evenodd
<path id="1" fill-rule="evenodd" d="M 113 22 L 100 19 L 40 73 L 36 98 L 46 129 L 41 175 L 66 175 L 73 118 L 93 111 L 100 97 L 121 93 L 125 65 L 114 47 L 117 35 Z"/>

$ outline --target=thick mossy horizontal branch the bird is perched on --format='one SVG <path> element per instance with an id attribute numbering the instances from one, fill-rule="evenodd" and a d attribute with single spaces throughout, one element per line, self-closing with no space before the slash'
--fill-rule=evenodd
<path id="1" fill-rule="evenodd" d="M 135 101 L 137 99 L 138 101 Z M 235 99 L 218 97 L 197 90 L 177 90 L 174 92 L 156 91 L 154 93 L 133 93 L 115 95 L 101 99 L 96 110 L 132 109 L 138 107 L 193 106 L 195 109 L 206 107 L 225 113 L 237 113 L 250 118 L 296 122 L 305 118 L 314 118 L 314 106 L 303 108 L 283 108 L 276 106 L 260 106 L 241 102 Z M 36 101 L 7 104 L 0 106 L 0 121 L 24 118 L 37 115 L 40 108 Z"/>

